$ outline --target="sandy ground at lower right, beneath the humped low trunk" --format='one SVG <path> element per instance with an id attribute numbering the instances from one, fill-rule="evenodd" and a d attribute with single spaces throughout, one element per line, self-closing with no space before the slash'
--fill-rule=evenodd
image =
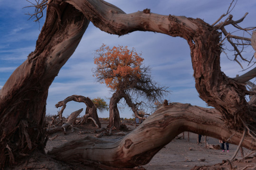
<path id="1" fill-rule="evenodd" d="M 180 136 L 182 135 L 180 134 Z M 234 144 L 229 144 L 229 153 L 207 149 L 205 148 L 205 137 L 202 136 L 202 144 L 197 144 L 197 136 L 197 134 L 190 133 L 190 141 L 188 141 L 188 132 L 185 132 L 185 139 L 172 140 L 143 167 L 146 170 L 190 170 L 196 165 L 214 165 L 222 160 L 230 159 L 237 149 Z M 218 144 L 218 139 L 207 137 L 207 140 L 209 144 Z M 243 149 L 245 155 L 249 153 L 247 149 Z M 236 158 L 242 158 L 240 151 Z"/>

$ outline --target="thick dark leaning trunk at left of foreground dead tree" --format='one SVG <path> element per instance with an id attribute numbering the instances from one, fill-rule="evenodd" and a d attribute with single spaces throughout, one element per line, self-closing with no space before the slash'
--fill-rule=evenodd
<path id="1" fill-rule="evenodd" d="M 44 152 L 48 88 L 73 54 L 89 21 L 68 3 L 52 1 L 36 49 L 0 90 L 0 169 L 32 151 Z"/>

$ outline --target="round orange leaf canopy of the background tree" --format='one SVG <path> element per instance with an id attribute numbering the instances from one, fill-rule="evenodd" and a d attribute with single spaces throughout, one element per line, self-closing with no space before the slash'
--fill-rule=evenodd
<path id="1" fill-rule="evenodd" d="M 94 63 L 97 67 L 94 76 L 112 90 L 119 89 L 121 85 L 123 88 L 124 84 L 128 85 L 134 78 L 141 78 L 141 65 L 144 60 L 141 55 L 134 48 L 129 50 L 127 46 L 118 45 L 111 49 L 103 44 L 96 50 Z"/>

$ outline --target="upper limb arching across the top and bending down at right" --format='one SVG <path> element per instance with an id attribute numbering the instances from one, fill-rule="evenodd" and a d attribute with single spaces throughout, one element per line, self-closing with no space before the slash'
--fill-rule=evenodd
<path id="1" fill-rule="evenodd" d="M 133 31 L 153 31 L 180 36 L 190 45 L 192 66 L 199 97 L 219 110 L 227 125 L 239 129 L 243 121 L 255 126 L 254 111 L 245 95 L 246 87 L 227 77 L 220 70 L 221 44 L 218 28 L 203 20 L 184 16 L 163 16 L 147 11 L 132 14 L 98 0 L 69 0 L 85 17 L 110 34 L 128 34 Z"/>

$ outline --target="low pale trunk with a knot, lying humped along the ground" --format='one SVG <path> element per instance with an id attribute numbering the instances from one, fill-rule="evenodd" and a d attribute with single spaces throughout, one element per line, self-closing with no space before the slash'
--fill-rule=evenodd
<path id="1" fill-rule="evenodd" d="M 110 142 L 107 139 L 85 137 L 55 147 L 48 154 L 61 161 L 94 162 L 111 167 L 132 168 L 148 163 L 163 146 L 183 131 L 239 144 L 242 134 L 226 128 L 221 117 L 215 109 L 171 103 L 162 106 L 121 139 Z M 242 145 L 255 150 L 256 140 L 247 136 Z"/>

